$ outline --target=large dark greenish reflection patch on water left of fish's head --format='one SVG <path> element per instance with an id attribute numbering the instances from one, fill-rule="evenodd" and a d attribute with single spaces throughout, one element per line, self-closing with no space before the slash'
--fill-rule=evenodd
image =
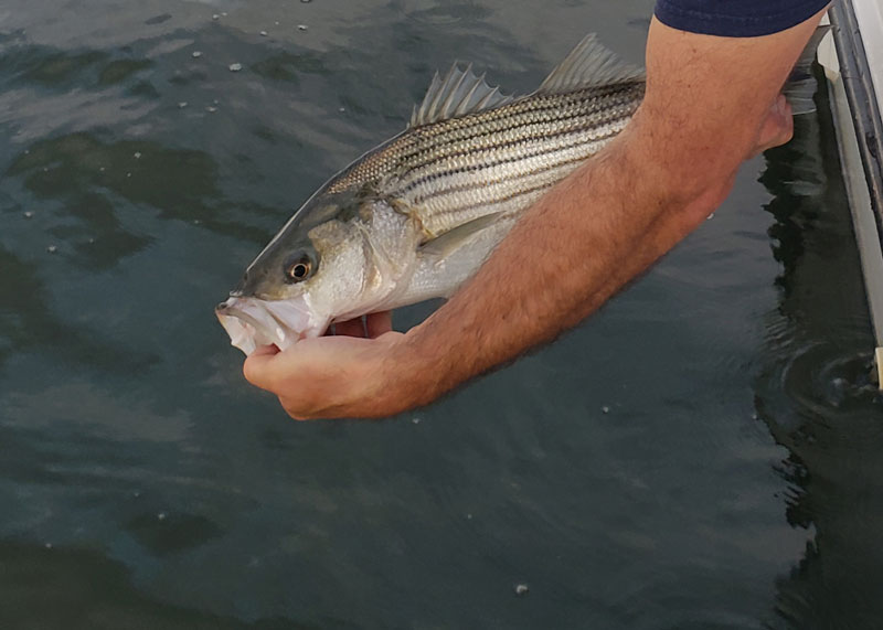
<path id="1" fill-rule="evenodd" d="M 58 202 L 61 217 L 76 220 L 75 226 L 60 220 L 52 233 L 85 253 L 85 259 L 74 258 L 84 263 L 95 252 L 94 258 L 110 267 L 149 243 L 123 227 L 116 216 L 121 202 L 151 206 L 160 217 L 199 222 L 221 233 L 246 232 L 223 222 L 216 207 L 221 196 L 216 167 L 201 151 L 139 140 L 105 143 L 88 134 L 74 134 L 32 145 L 7 175 L 21 178 L 36 200 Z"/>

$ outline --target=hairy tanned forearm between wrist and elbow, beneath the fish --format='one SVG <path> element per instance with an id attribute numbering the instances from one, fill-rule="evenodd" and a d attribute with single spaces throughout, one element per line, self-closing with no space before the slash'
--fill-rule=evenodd
<path id="1" fill-rule="evenodd" d="M 714 210 L 727 182 L 694 199 L 669 194 L 666 173 L 640 154 L 640 134 L 630 127 L 528 210 L 477 275 L 407 333 L 395 359 L 415 375 L 404 399 L 428 402 L 576 325 Z M 411 372 L 417 363 L 432 372 Z"/>

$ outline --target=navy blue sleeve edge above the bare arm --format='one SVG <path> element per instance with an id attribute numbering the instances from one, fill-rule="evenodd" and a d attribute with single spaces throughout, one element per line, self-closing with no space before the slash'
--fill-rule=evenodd
<path id="1" fill-rule="evenodd" d="M 790 29 L 830 0 L 657 0 L 656 17 L 681 31 L 754 38 Z"/>

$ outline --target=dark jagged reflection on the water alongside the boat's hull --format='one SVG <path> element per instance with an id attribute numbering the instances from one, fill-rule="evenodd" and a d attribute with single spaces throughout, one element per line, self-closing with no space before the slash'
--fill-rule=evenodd
<path id="1" fill-rule="evenodd" d="M 775 195 L 770 236 L 783 265 L 767 321 L 757 410 L 788 448 L 786 515 L 815 531 L 778 581 L 788 628 L 875 628 L 883 618 L 883 398 L 860 285 L 837 147 L 821 124 L 798 120 L 796 141 L 769 151 L 762 181 Z"/>

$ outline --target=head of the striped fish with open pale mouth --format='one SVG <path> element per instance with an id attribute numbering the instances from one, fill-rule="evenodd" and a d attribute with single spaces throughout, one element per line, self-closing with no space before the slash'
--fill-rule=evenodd
<path id="1" fill-rule="evenodd" d="M 333 321 L 371 312 L 394 286 L 383 244 L 401 236 L 396 228 L 404 222 L 387 225 L 381 215 L 398 213 L 352 193 L 311 199 L 216 307 L 232 344 L 246 354 L 258 345 L 285 350 L 321 335 Z"/>

